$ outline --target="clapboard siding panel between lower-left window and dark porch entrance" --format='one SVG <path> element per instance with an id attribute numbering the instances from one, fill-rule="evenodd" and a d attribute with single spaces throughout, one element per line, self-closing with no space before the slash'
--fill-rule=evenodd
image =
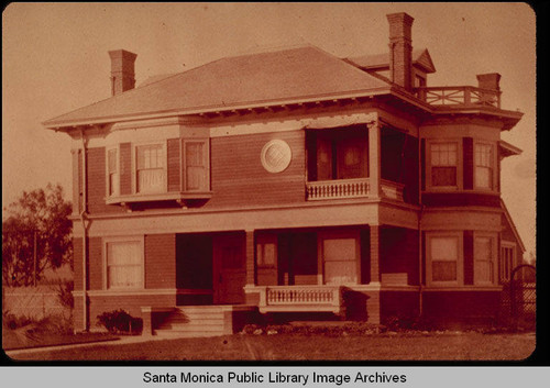
<path id="1" fill-rule="evenodd" d="M 145 235 L 145 288 L 176 287 L 176 235 Z"/>

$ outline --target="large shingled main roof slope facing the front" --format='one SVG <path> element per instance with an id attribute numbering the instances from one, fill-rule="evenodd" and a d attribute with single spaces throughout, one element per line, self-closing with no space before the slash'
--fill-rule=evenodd
<path id="1" fill-rule="evenodd" d="M 46 128 L 369 95 L 389 86 L 315 46 L 227 57 L 51 119 Z"/>

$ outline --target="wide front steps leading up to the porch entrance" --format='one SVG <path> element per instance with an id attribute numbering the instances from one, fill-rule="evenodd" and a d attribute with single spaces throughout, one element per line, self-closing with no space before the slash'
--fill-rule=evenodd
<path id="1" fill-rule="evenodd" d="M 254 306 L 178 306 L 153 328 L 166 337 L 205 337 L 230 335 L 254 320 Z"/>

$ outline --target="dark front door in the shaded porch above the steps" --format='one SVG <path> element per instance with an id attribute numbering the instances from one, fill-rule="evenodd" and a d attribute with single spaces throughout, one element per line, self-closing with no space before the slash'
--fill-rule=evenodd
<path id="1" fill-rule="evenodd" d="M 244 303 L 246 268 L 244 236 L 223 235 L 215 239 L 213 302 L 217 304 Z"/>

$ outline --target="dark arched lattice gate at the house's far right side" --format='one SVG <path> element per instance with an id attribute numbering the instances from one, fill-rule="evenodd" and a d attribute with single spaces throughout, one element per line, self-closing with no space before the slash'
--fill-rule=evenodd
<path id="1" fill-rule="evenodd" d="M 514 328 L 535 329 L 537 321 L 536 268 L 522 264 L 510 274 L 509 301 Z"/>

